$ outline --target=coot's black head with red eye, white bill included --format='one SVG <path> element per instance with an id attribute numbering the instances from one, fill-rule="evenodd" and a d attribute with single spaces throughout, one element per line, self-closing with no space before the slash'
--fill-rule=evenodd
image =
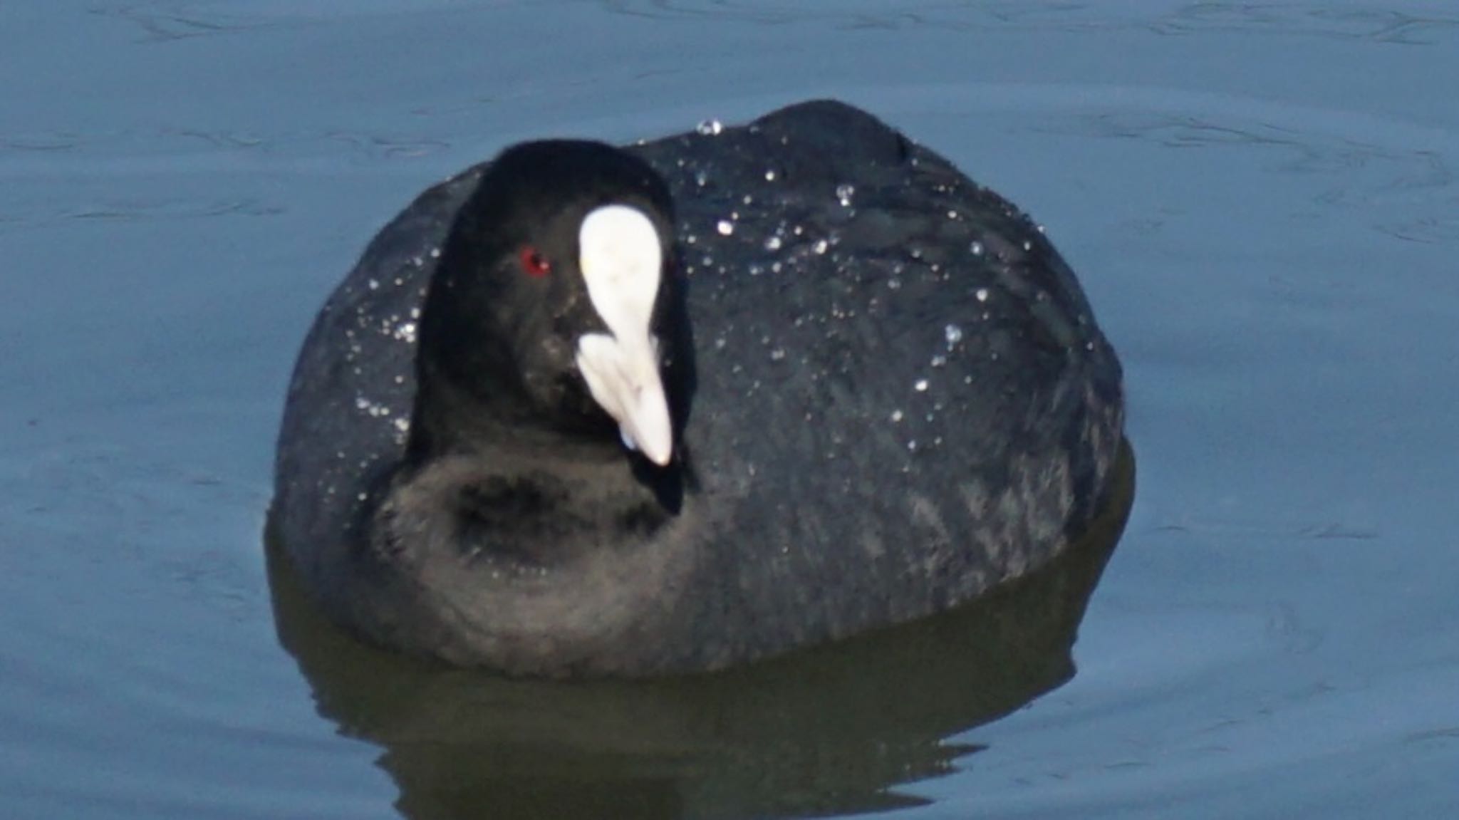
<path id="1" fill-rule="evenodd" d="M 662 357 L 677 357 L 684 337 L 673 219 L 662 178 L 617 147 L 547 140 L 502 152 L 463 204 L 430 282 L 411 449 L 439 451 L 486 422 L 639 436 L 662 463 L 657 416 L 643 433 L 624 416 L 658 388 Z"/>

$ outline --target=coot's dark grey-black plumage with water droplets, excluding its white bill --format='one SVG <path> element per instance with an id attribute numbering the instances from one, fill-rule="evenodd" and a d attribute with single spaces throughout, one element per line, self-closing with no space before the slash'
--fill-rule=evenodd
<path id="1" fill-rule="evenodd" d="M 515 674 L 699 671 L 972 600 L 1099 511 L 1121 368 L 1010 203 L 836 102 L 624 150 L 661 181 L 623 159 L 604 184 L 677 229 L 654 318 L 674 461 L 627 452 L 553 353 L 594 321 L 572 264 L 441 306 L 496 258 L 481 194 L 508 188 L 471 168 L 381 231 L 299 356 L 273 527 L 333 619 Z M 600 201 L 569 178 L 521 196 Z M 480 378 L 455 362 L 473 328 L 433 334 L 451 311 L 500 346 Z"/>

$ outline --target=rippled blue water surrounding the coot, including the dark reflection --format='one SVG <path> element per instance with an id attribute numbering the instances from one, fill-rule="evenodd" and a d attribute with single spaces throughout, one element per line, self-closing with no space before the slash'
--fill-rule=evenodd
<path id="1" fill-rule="evenodd" d="M 0 19 L 0 816 L 1459 813 L 1453 3 Z M 516 139 L 810 96 L 1080 271 L 1126 365 L 1119 547 L 1122 508 L 967 613 L 687 683 L 442 673 L 317 623 L 266 562 L 273 436 L 374 231 Z"/>

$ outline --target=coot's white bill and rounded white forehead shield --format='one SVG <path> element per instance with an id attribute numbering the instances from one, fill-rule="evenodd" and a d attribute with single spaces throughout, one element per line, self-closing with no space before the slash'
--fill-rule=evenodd
<path id="1" fill-rule="evenodd" d="M 578 369 L 594 401 L 619 423 L 623 444 L 668 464 L 674 429 L 649 337 L 664 264 L 658 231 L 638 209 L 601 206 L 582 220 L 578 248 L 588 298 L 608 328 L 578 340 Z"/>

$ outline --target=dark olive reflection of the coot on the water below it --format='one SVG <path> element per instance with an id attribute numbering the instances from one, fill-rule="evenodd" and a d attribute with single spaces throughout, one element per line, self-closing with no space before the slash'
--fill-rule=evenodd
<path id="1" fill-rule="evenodd" d="M 750 667 L 654 681 L 525 681 L 369 648 L 324 620 L 279 547 L 279 638 L 320 713 L 381 744 L 411 820 L 767 817 L 916 802 L 943 740 L 1074 674 L 1084 607 L 1134 498 L 1134 454 L 1088 533 L 959 610 Z"/>

